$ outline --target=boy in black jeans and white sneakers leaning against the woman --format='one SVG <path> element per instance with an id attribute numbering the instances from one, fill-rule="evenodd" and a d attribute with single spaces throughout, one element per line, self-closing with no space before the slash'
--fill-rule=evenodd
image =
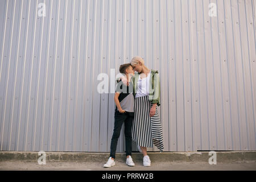
<path id="1" fill-rule="evenodd" d="M 115 165 L 115 150 L 117 149 L 117 142 L 123 122 L 125 122 L 126 164 L 128 166 L 135 166 L 131 158 L 131 128 L 134 118 L 134 95 L 131 77 L 134 74 L 134 70 L 131 64 L 122 64 L 119 67 L 119 72 L 126 75 L 129 85 L 126 86 L 122 81 L 119 81 L 115 89 L 114 101 L 116 106 L 114 132 L 110 144 L 110 157 L 108 162 L 104 164 L 104 167 L 112 167 Z"/>

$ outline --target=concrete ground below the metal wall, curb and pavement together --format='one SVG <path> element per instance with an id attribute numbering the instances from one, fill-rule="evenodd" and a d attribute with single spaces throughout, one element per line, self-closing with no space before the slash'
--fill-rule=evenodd
<path id="1" fill-rule="evenodd" d="M 209 152 L 148 152 L 151 167 L 144 167 L 142 154 L 134 152 L 135 167 L 125 164 L 124 153 L 117 153 L 115 166 L 104 168 L 109 153 L 93 152 L 0 152 L 0 170 L 86 170 L 86 171 L 201 171 L 246 170 L 256 171 L 255 151 L 216 151 L 216 164 L 209 164 Z M 38 159 L 41 157 L 40 162 Z M 46 164 L 42 163 L 43 160 Z M 213 162 L 213 160 L 211 160 Z"/>

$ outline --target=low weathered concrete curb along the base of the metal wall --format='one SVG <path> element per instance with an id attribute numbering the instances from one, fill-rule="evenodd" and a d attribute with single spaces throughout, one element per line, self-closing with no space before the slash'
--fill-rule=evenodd
<path id="1" fill-rule="evenodd" d="M 22 161 L 37 162 L 38 152 L 28 151 L 0 151 L 0 162 Z M 212 155 L 209 152 L 148 152 L 151 162 L 207 162 Z M 142 161 L 143 155 L 133 152 L 134 161 Z M 50 162 L 106 162 L 109 152 L 47 152 L 46 161 Z M 256 162 L 256 151 L 216 151 L 217 162 Z M 115 160 L 123 162 L 125 153 L 117 153 Z"/>

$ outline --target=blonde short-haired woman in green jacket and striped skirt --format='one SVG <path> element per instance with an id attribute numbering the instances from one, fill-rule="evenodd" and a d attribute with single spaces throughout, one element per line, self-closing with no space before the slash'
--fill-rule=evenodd
<path id="1" fill-rule="evenodd" d="M 150 166 L 151 161 L 147 155 L 147 147 L 152 148 L 153 144 L 163 151 L 163 132 L 158 106 L 160 105 L 160 83 L 159 73 L 154 69 L 148 69 L 144 65 L 144 60 L 133 57 L 131 65 L 134 71 L 133 91 L 134 103 L 134 123 L 132 137 L 141 148 L 143 154 L 143 166 Z M 126 80 L 122 79 L 123 82 Z"/>

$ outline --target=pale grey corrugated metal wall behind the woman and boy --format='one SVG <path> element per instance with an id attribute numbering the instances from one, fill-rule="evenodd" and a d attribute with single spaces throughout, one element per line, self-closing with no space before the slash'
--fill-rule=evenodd
<path id="1" fill-rule="evenodd" d="M 160 72 L 164 151 L 256 150 L 255 4 L 1 0 L 1 151 L 110 151 L 97 76 L 135 55 Z"/>

